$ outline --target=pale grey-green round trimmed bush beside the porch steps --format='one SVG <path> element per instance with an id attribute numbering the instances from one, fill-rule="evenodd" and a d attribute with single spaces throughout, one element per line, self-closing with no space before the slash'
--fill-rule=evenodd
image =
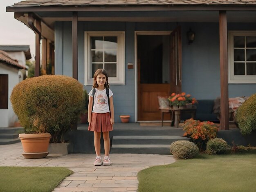
<path id="1" fill-rule="evenodd" d="M 190 141 L 174 141 L 170 146 L 171 154 L 178 159 L 192 159 L 199 153 L 198 146 Z"/>

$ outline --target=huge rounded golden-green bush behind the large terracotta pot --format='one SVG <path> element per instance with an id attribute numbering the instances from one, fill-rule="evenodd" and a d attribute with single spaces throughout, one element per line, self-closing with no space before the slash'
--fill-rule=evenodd
<path id="1" fill-rule="evenodd" d="M 61 75 L 44 75 L 18 83 L 11 93 L 13 111 L 25 132 L 50 133 L 51 142 L 64 142 L 82 106 L 83 85 Z"/>

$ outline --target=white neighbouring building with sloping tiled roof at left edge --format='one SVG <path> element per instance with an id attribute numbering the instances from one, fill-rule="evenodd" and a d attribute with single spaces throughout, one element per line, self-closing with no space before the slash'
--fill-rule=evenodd
<path id="1" fill-rule="evenodd" d="M 13 87 L 19 83 L 20 69 L 26 67 L 0 50 L 0 127 L 12 127 L 18 120 L 11 107 L 10 96 Z"/>

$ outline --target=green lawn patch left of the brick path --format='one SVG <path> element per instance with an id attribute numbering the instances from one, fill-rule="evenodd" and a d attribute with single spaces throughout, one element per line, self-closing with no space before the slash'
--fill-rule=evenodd
<path id="1" fill-rule="evenodd" d="M 0 167 L 0 191 L 50 192 L 73 172 L 65 167 Z"/>

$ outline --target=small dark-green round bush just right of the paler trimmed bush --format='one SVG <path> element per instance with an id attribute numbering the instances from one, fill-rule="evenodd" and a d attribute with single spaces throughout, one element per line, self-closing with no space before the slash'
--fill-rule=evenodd
<path id="1" fill-rule="evenodd" d="M 222 154 L 229 149 L 227 141 L 222 138 L 213 138 L 206 144 L 206 151 L 208 154 Z"/>

